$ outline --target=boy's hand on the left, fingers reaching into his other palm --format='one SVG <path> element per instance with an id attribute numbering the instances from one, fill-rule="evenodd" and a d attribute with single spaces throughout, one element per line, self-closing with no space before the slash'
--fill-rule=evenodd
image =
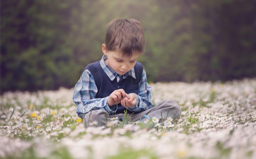
<path id="1" fill-rule="evenodd" d="M 119 104 L 124 98 L 130 99 L 130 96 L 123 89 L 117 89 L 109 95 L 108 106 Z"/>

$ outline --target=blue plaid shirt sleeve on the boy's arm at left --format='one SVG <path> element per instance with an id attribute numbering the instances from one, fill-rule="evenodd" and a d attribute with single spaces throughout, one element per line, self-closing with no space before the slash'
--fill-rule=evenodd
<path id="1" fill-rule="evenodd" d="M 91 72 L 86 69 L 81 75 L 77 82 L 74 90 L 73 101 L 76 104 L 76 114 L 80 118 L 84 118 L 85 114 L 92 110 L 105 110 L 109 113 L 115 113 L 117 110 L 116 106 L 112 106 L 111 109 L 105 98 L 96 98 L 98 89 Z"/>

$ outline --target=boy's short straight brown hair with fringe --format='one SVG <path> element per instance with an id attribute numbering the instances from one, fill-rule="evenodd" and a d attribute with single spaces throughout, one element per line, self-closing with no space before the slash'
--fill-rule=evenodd
<path id="1" fill-rule="evenodd" d="M 133 53 L 144 52 L 145 39 L 140 22 L 135 19 L 116 18 L 106 29 L 106 49 L 120 51 L 124 57 L 131 57 Z"/>

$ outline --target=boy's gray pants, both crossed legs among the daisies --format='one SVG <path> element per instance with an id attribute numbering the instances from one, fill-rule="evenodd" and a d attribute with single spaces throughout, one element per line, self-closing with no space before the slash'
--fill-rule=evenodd
<path id="1" fill-rule="evenodd" d="M 133 113 L 129 114 L 130 120 L 132 122 L 140 120 L 140 118 L 143 115 L 148 115 L 151 118 L 156 116 L 159 120 L 159 123 L 162 123 L 162 121 L 166 120 L 166 118 L 171 117 L 173 120 L 179 119 L 181 115 L 181 109 L 180 106 L 175 102 L 174 100 L 163 100 L 160 101 L 155 107 L 150 108 L 146 111 L 140 112 L 140 113 Z M 97 121 L 97 126 L 104 126 L 106 125 L 106 122 L 110 121 L 113 117 L 119 117 L 122 118 L 124 116 L 124 113 L 116 114 L 116 115 L 109 115 L 106 111 L 103 110 L 96 110 L 88 112 L 85 115 L 85 122 L 86 126 L 89 126 L 90 122 Z"/>

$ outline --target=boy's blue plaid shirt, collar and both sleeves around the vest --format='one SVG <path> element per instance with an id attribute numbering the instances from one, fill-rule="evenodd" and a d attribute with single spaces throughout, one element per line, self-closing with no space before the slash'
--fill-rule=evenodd
<path id="1" fill-rule="evenodd" d="M 124 75 L 119 75 L 114 70 L 112 70 L 109 66 L 106 65 L 105 63 L 106 59 L 107 59 L 107 56 L 103 55 L 100 61 L 100 65 L 110 80 L 113 81 L 115 78 L 117 78 L 117 82 L 119 82 L 122 79 L 125 79 L 126 77 L 128 77 L 128 75 L 132 76 L 133 78 L 136 78 L 134 68 L 128 71 Z M 139 113 L 154 107 L 153 102 L 151 100 L 152 89 L 150 85 L 147 83 L 145 69 L 143 69 L 142 78 L 141 78 L 141 81 L 139 82 L 139 86 L 140 86 L 139 93 L 135 94 L 137 98 L 137 104 L 135 105 L 135 107 L 128 108 L 128 110 L 134 113 Z M 107 100 L 109 97 L 95 98 L 97 92 L 98 92 L 98 89 L 96 87 L 95 81 L 90 71 L 86 69 L 82 73 L 79 81 L 77 82 L 75 86 L 74 95 L 73 95 L 73 101 L 76 103 L 76 106 L 77 106 L 76 114 L 80 118 L 84 118 L 85 114 L 91 110 L 101 109 L 101 110 L 107 111 L 108 113 L 116 112 L 117 106 L 111 107 L 112 109 L 115 108 L 115 110 L 112 110 L 107 104 Z"/>

